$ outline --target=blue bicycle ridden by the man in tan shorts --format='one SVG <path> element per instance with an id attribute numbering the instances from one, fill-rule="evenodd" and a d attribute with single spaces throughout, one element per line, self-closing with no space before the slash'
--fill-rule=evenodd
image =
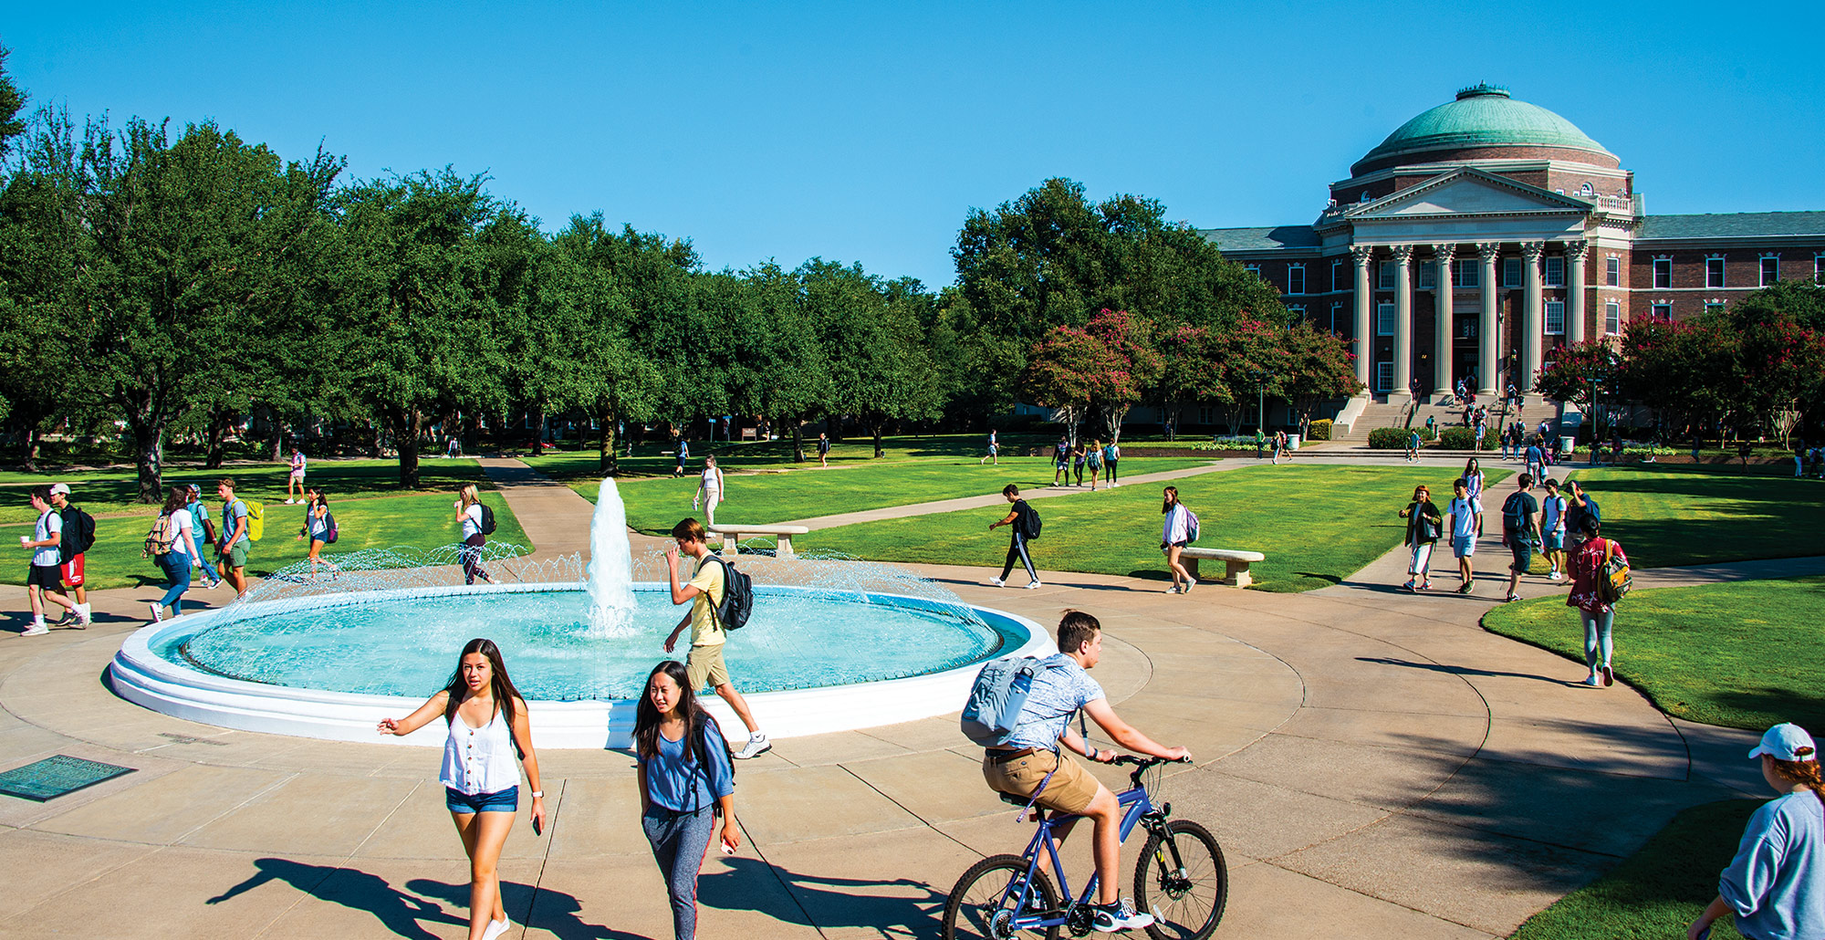
<path id="1" fill-rule="evenodd" d="M 1146 847 L 1135 860 L 1133 883 L 1135 909 L 1153 914 L 1153 925 L 1146 933 L 1155 940 L 1210 936 L 1223 920 L 1223 907 L 1230 896 L 1230 871 L 1223 863 L 1223 849 L 1204 827 L 1190 820 L 1172 820 L 1172 803 L 1153 805 L 1148 790 L 1159 789 L 1157 778 L 1152 787 L 1142 781 L 1148 770 L 1175 761 L 1122 754 L 1113 763 L 1135 767 L 1128 774 L 1132 787 L 1117 794 L 1122 807 L 1122 841 L 1137 823 L 1148 830 Z M 1002 799 L 1022 809 L 1031 807 L 1018 796 L 1002 794 Z M 1071 883 L 1058 860 L 1058 843 L 1051 834 L 1053 827 L 1075 816 L 1064 812 L 1040 814 L 1038 832 L 1033 834 L 1026 852 L 989 856 L 971 865 L 956 880 L 944 905 L 944 940 L 975 936 L 1057 940 L 1060 927 L 1071 931 L 1071 936 L 1088 935 L 1097 876 L 1091 874 L 1084 891 L 1073 900 Z M 1058 874 L 1066 898 L 1062 903 L 1051 878 L 1038 867 L 1040 858 L 1049 858 L 1051 871 Z"/>

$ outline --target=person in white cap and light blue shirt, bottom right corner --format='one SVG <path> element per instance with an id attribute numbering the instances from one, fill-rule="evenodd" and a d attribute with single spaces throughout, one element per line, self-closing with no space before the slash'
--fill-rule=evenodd
<path id="1" fill-rule="evenodd" d="M 1776 799 L 1763 803 L 1743 827 L 1736 858 L 1717 878 L 1717 896 L 1686 927 L 1701 940 L 1712 924 L 1736 916 L 1748 940 L 1825 936 L 1825 776 L 1812 736 L 1798 725 L 1776 725 L 1748 752 L 1761 759 L 1761 779 Z"/>

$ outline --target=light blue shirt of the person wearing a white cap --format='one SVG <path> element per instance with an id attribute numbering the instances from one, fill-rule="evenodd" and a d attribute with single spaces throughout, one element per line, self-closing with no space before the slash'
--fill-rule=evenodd
<path id="1" fill-rule="evenodd" d="M 1825 807 L 1812 790 L 1770 799 L 1748 818 L 1736 858 L 1717 880 L 1737 933 L 1750 940 L 1825 936 L 1821 845 Z"/>

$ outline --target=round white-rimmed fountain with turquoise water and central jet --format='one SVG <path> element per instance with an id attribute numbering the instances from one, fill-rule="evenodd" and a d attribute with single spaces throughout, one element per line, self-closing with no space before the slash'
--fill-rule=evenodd
<path id="1" fill-rule="evenodd" d="M 374 723 L 416 708 L 449 681 L 464 642 L 489 637 L 540 747 L 626 747 L 646 674 L 688 606 L 672 604 L 661 557 L 631 557 L 613 482 L 602 482 L 588 566 L 489 548 L 484 568 L 500 580 L 491 586 L 456 582 L 454 546 L 350 553 L 334 580 L 312 580 L 305 566 L 279 571 L 248 601 L 133 633 L 110 681 L 133 703 L 208 725 L 442 745 L 438 723 L 403 739 Z M 953 712 L 982 661 L 1051 652 L 1038 624 L 892 566 L 737 564 L 756 580 L 756 604 L 730 635 L 728 666 L 774 737 Z M 737 721 L 715 695 L 704 705 L 725 726 Z"/>

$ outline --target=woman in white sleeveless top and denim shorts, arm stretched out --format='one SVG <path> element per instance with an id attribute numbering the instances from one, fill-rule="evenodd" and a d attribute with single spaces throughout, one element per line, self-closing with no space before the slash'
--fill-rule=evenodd
<path id="1" fill-rule="evenodd" d="M 495 641 L 476 637 L 464 644 L 449 684 L 402 719 L 380 719 L 380 734 L 412 734 L 443 715 L 443 805 L 456 821 L 456 834 L 469 852 L 469 940 L 495 940 L 507 933 L 507 909 L 500 903 L 500 847 L 507 843 L 520 809 L 520 770 L 533 789 L 533 832 L 546 825 L 546 794 L 538 789 L 538 756 L 526 699 L 513 688 L 507 664 Z"/>

